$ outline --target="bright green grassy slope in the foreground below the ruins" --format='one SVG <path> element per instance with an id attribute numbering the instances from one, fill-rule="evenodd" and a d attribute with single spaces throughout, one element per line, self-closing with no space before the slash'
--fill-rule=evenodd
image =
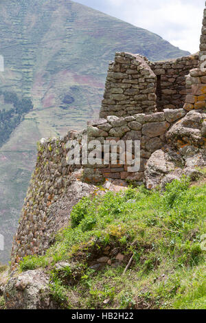
<path id="1" fill-rule="evenodd" d="M 205 216 L 206 183 L 185 178 L 163 194 L 144 187 L 94 194 L 73 208 L 45 256 L 28 256 L 20 267 L 45 268 L 63 308 L 205 309 Z M 95 267 L 102 256 L 110 261 Z"/>

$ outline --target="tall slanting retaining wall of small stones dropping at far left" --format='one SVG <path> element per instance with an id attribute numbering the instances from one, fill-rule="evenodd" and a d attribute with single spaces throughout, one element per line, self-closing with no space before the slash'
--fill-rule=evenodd
<path id="1" fill-rule="evenodd" d="M 67 142 L 81 141 L 81 135 L 69 131 L 65 137 L 43 139 L 38 143 L 36 167 L 21 212 L 21 222 L 14 236 L 12 265 L 19 263 L 23 256 L 40 251 L 50 220 L 47 210 L 64 194 L 71 172 L 80 168 L 80 165 L 67 165 Z"/>

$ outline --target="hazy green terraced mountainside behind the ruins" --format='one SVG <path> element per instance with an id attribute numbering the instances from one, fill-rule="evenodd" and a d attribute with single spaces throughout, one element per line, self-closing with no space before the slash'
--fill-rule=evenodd
<path id="1" fill-rule="evenodd" d="M 82 129 L 98 117 L 108 61 L 116 51 L 150 60 L 189 53 L 148 30 L 69 0 L 1 0 L 0 29 L 5 60 L 1 93 L 16 94 L 20 102 L 31 98 L 34 104 L 16 115 L 10 111 L 14 103 L 0 95 L 1 115 L 11 118 L 10 126 L 0 129 L 5 132 L 0 138 L 0 233 L 5 236 L 0 261 L 5 263 L 34 168 L 36 142 Z"/>

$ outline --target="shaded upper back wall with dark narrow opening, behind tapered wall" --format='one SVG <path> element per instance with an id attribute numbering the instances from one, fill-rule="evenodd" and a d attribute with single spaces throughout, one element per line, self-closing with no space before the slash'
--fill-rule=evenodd
<path id="1" fill-rule="evenodd" d="M 198 66 L 198 54 L 150 63 L 157 76 L 157 110 L 180 109 L 185 102 L 187 89 L 185 76 Z"/>

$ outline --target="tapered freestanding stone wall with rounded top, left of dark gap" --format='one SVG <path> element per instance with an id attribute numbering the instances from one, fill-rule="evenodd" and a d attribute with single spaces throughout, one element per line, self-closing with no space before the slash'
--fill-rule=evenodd
<path id="1" fill-rule="evenodd" d="M 100 118 L 136 113 L 153 113 L 156 109 L 156 76 L 143 56 L 116 53 L 108 67 Z"/>

